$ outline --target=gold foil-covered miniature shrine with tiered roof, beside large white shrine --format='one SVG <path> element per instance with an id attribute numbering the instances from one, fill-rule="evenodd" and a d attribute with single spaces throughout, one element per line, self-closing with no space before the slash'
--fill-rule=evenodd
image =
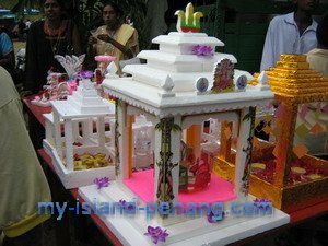
<path id="1" fill-rule="evenodd" d="M 272 157 L 276 159 L 272 183 L 255 176 L 250 192 L 259 197 L 266 196 L 277 208 L 291 212 L 324 201 L 328 195 L 328 162 L 313 156 L 304 144 L 295 141 L 297 128 L 303 127 L 297 124 L 297 120 L 305 117 L 302 116 L 302 110 L 307 110 L 306 105 L 316 104 L 309 106 L 313 109 L 308 109 L 308 114 L 315 114 L 314 110 L 318 110 L 321 117 L 324 114 L 327 117 L 327 113 L 324 113 L 321 108 L 325 103 L 327 107 L 328 78 L 309 69 L 305 55 L 281 55 L 277 66 L 269 69 L 267 74 L 274 98 L 280 102 L 277 110 L 281 110 L 281 114 L 276 117 L 276 127 L 288 130 L 283 133 L 278 132 L 274 149 L 269 147 L 273 153 Z M 320 108 L 317 108 L 317 105 Z M 320 128 L 319 125 L 313 124 L 309 131 L 315 127 Z M 321 130 L 325 131 L 325 129 Z M 327 130 L 326 126 L 326 132 Z M 319 133 L 312 131 L 314 137 Z M 309 174 L 311 172 L 306 171 L 304 165 L 316 169 L 316 173 Z M 302 175 L 304 171 L 306 173 Z M 304 180 L 294 180 L 297 173 Z M 292 177 L 293 175 L 295 177 Z"/>

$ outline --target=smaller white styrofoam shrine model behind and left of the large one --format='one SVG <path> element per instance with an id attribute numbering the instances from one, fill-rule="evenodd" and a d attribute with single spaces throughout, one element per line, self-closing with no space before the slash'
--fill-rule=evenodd
<path id="1" fill-rule="evenodd" d="M 114 150 L 110 150 L 109 144 L 114 141 L 106 142 L 108 132 L 105 125 L 107 122 L 114 127 L 110 122 L 114 120 L 115 105 L 99 97 L 89 79 L 81 81 L 78 91 L 67 101 L 54 101 L 51 105 L 52 113 L 45 115 L 44 149 L 52 157 L 63 186 L 69 189 L 91 185 L 102 176 L 115 178 L 113 163 L 103 167 L 90 166 L 87 169 L 74 166 L 77 154 L 99 154 L 105 155 L 104 160 L 114 160 Z"/>

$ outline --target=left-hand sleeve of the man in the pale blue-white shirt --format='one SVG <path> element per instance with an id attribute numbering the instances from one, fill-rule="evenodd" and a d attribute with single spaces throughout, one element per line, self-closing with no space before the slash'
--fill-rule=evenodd
<path id="1" fill-rule="evenodd" d="M 260 71 L 274 66 L 274 25 L 270 23 L 263 46 Z"/>

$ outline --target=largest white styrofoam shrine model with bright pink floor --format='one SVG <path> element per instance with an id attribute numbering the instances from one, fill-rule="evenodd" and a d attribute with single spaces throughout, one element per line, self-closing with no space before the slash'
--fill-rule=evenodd
<path id="1" fill-rule="evenodd" d="M 233 195 L 215 200 L 218 194 L 220 197 L 220 192 L 224 194 L 224 190 L 220 186 L 213 187 L 218 179 L 214 174 L 209 174 L 212 179 L 208 186 L 206 184 L 203 190 L 212 190 L 213 196 L 210 196 L 210 200 L 202 201 L 225 202 L 226 209 L 236 200 L 242 203 L 251 201 L 254 198 L 248 196 L 248 186 L 255 108 L 268 104 L 273 94 L 269 90 L 241 90 L 242 86 L 237 87 L 238 79 L 249 74 L 236 70 L 236 87 L 226 93 L 210 93 L 209 89 L 215 86 L 213 73 L 220 68 L 220 61 L 227 59 L 230 66 L 235 63 L 236 59 L 232 55 L 202 56 L 192 50 L 196 46 L 214 50 L 216 46 L 223 45 L 218 38 L 203 33 L 169 33 L 156 37 L 153 42 L 160 45 L 159 50 L 142 51 L 138 55 L 147 60 L 145 65 L 130 65 L 124 68 L 124 72 L 132 77 L 108 78 L 103 82 L 105 92 L 117 98 L 118 176 L 103 190 L 87 186 L 81 187 L 80 194 L 90 202 L 94 199 L 97 202 L 118 202 L 121 199 L 130 201 L 137 198 L 140 211 L 147 208 L 147 202 L 167 202 L 172 206 L 188 199 L 189 195 L 191 199 L 202 199 L 197 192 L 180 192 L 181 171 L 187 168 L 187 176 L 190 174 L 189 166 L 183 165 L 181 142 L 186 142 L 186 145 L 192 149 L 195 157 L 200 159 L 201 125 L 212 118 L 219 121 L 234 121 L 237 127 L 235 179 L 233 184 L 227 184 L 226 180 L 221 183 L 231 187 L 230 191 Z M 224 79 L 225 74 L 220 74 Z M 140 114 L 155 126 L 154 169 L 132 173 L 132 126 L 134 116 Z M 184 132 L 186 138 L 183 137 Z M 148 225 L 160 225 L 167 230 L 169 236 L 165 245 L 225 245 L 289 222 L 289 215 L 278 210 L 269 218 L 232 215 L 214 224 L 209 223 L 207 216 L 156 214 L 147 218 L 142 212 L 138 212 L 136 216 L 107 214 L 102 219 L 124 245 L 152 245 L 152 241 L 143 235 Z"/>

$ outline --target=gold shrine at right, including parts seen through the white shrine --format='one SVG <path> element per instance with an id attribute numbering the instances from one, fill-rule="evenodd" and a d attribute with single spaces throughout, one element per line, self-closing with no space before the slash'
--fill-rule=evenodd
<path id="1" fill-rule="evenodd" d="M 276 208 L 292 212 L 328 198 L 328 162 L 307 153 L 297 154 L 294 147 L 298 107 L 308 103 L 327 103 L 328 78 L 309 69 L 304 55 L 281 55 L 277 66 L 267 74 L 276 101 L 283 108 L 274 122 L 281 131 L 276 134 L 276 145 L 266 141 L 254 144 L 253 166 L 265 168 L 261 161 L 271 157 L 276 169 L 270 181 L 253 173 L 249 192 L 270 199 Z M 221 132 L 226 127 L 231 128 L 231 125 L 223 125 Z M 231 139 L 222 141 L 221 152 L 214 157 L 214 172 L 225 179 L 234 178 L 235 155 L 230 151 L 231 144 Z M 302 172 L 302 168 L 293 167 L 295 162 L 305 163 L 309 168 L 319 171 L 320 175 L 291 184 L 291 172 Z"/>

